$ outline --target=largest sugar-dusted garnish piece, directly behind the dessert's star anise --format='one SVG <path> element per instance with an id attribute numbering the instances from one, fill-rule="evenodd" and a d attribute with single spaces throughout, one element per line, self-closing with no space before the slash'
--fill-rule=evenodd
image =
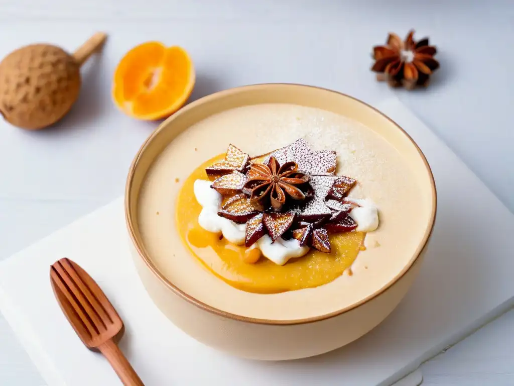
<path id="1" fill-rule="evenodd" d="M 271 155 L 280 164 L 295 161 L 298 164 L 298 170 L 310 175 L 334 174 L 336 172 L 336 152 L 331 150 L 313 151 L 303 138 L 273 151 Z"/>

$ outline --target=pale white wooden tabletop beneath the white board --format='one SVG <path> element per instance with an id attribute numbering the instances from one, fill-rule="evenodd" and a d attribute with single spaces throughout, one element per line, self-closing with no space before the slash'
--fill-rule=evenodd
<path id="1" fill-rule="evenodd" d="M 110 79 L 123 53 L 146 40 L 190 51 L 193 98 L 296 82 L 373 102 L 393 91 L 369 72 L 371 47 L 389 30 L 403 35 L 414 27 L 438 46 L 442 69 L 428 90 L 394 92 L 514 212 L 513 20 L 508 0 L 3 0 L 0 56 L 38 41 L 72 50 L 96 30 L 110 39 L 84 68 L 79 102 L 57 128 L 29 133 L 0 123 L 0 259 L 121 194 L 155 124 L 119 114 Z M 514 384 L 513 345 L 511 311 L 425 363 L 424 384 Z M 0 317 L 0 385 L 40 384 Z"/>

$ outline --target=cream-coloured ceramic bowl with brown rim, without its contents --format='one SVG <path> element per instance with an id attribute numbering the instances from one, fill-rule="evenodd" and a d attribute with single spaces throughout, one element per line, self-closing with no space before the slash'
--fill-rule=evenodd
<path id="1" fill-rule="evenodd" d="M 228 109 L 259 103 L 290 103 L 319 108 L 354 119 L 379 133 L 414 170 L 425 202 L 423 236 L 408 263 L 387 285 L 360 301 L 329 314 L 300 320 L 253 319 L 228 313 L 183 292 L 160 272 L 144 248 L 138 228 L 138 198 L 146 173 L 175 137 L 196 122 Z M 261 360 L 304 358 L 329 352 L 361 337 L 397 306 L 416 277 L 435 221 L 436 194 L 430 167 L 412 139 L 391 119 L 352 97 L 317 87 L 261 84 L 201 98 L 181 109 L 146 140 L 128 174 L 125 214 L 133 257 L 141 280 L 160 310 L 183 331 L 209 346 Z M 415 214 L 414 214 L 415 215 Z M 425 221 L 425 220 L 424 220 Z M 183 250 L 184 259 L 192 259 Z M 263 295 L 266 296 L 266 295 Z M 306 303 L 305 307 L 309 307 Z M 167 339 L 167 337 L 162 337 Z"/>

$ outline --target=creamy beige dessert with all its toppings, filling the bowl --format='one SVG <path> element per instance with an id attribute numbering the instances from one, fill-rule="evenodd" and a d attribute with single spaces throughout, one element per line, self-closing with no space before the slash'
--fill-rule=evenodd
<path id="1" fill-rule="evenodd" d="M 284 157 L 291 146 L 303 150 Z M 239 170 L 227 168 L 232 153 L 246 160 Z M 258 154 L 265 156 L 251 159 Z M 259 196 L 264 204 L 250 203 Z M 316 200 L 328 205 L 306 210 Z M 387 284 L 423 235 L 419 202 L 409 165 L 371 128 L 323 110 L 260 104 L 210 116 L 175 138 L 147 174 L 138 223 L 154 264 L 196 299 L 295 319 Z M 241 205 L 243 215 L 230 211 Z"/>

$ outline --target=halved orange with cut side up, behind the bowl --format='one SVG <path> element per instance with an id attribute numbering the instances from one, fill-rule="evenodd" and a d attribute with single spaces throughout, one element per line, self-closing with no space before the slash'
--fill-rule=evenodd
<path id="1" fill-rule="evenodd" d="M 194 66 L 186 50 L 146 42 L 132 48 L 118 63 L 113 99 L 131 117 L 160 119 L 186 103 L 194 82 Z"/>

